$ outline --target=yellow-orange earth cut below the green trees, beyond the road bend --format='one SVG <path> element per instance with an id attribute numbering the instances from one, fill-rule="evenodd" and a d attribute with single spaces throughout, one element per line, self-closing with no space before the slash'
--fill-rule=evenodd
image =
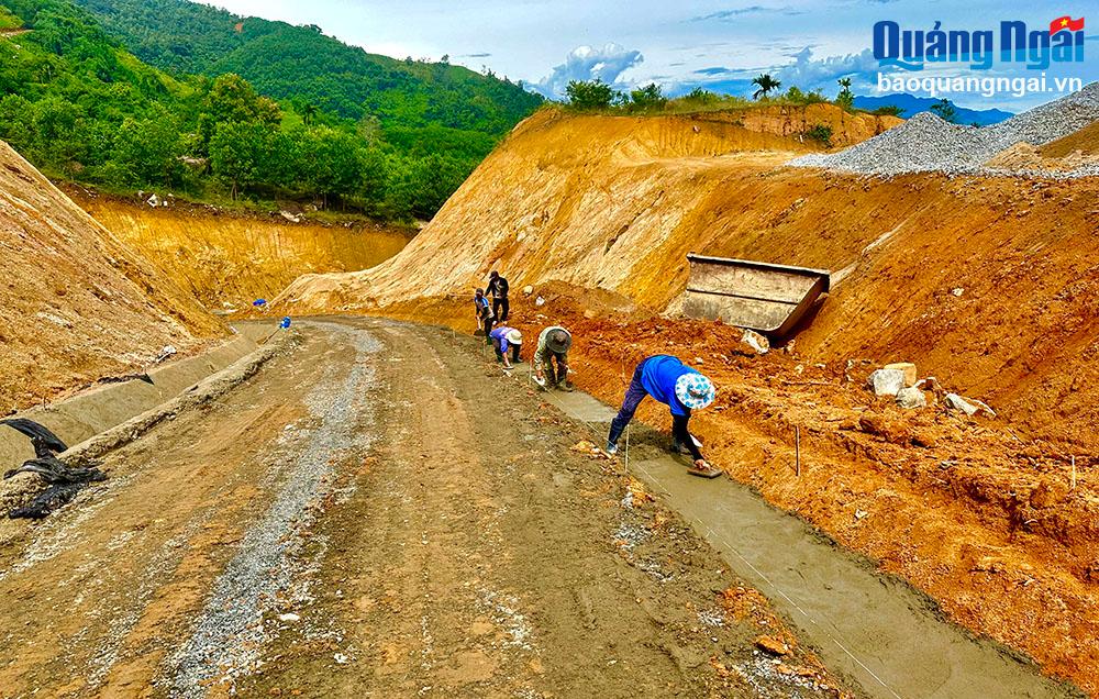
<path id="1" fill-rule="evenodd" d="M 203 207 L 158 207 L 74 192 L 76 201 L 208 308 L 246 309 L 298 276 L 373 267 L 413 232 L 371 223 L 295 223 Z"/>

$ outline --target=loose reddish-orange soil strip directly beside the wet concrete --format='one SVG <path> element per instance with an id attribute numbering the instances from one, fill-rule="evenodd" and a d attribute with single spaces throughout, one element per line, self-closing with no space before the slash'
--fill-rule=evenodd
<path id="1" fill-rule="evenodd" d="M 1099 696 L 1099 459 L 1076 455 L 1070 490 L 1072 454 L 1057 444 L 934 402 L 901 410 L 864 387 L 873 364 L 814 365 L 782 350 L 754 356 L 729 325 L 646 319 L 625 299 L 563 285 L 539 295 L 542 307 L 517 295 L 509 325 L 532 339 L 546 324 L 568 326 L 581 389 L 613 404 L 640 359 L 682 357 L 720 388 L 691 421 L 715 465 L 906 578 L 954 621 Z M 468 332 L 470 309 L 439 298 L 385 312 Z M 653 401 L 637 415 L 670 428 Z"/>

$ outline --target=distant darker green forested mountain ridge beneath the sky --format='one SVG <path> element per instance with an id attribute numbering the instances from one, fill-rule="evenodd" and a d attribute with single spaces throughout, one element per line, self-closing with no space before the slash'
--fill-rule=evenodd
<path id="1" fill-rule="evenodd" d="M 542 99 L 446 63 L 398 60 L 292 26 L 187 0 L 76 0 L 138 58 L 170 73 L 235 73 L 263 95 L 385 127 L 440 125 L 500 135 Z"/>

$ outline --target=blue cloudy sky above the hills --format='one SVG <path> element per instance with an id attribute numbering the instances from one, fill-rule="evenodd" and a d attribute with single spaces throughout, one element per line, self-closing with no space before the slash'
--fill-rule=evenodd
<path id="1" fill-rule="evenodd" d="M 660 84 L 669 93 L 702 86 L 736 95 L 769 71 L 784 88 L 836 91 L 852 77 L 857 95 L 877 95 L 878 65 L 869 55 L 872 27 L 892 20 L 903 29 L 997 29 L 1001 20 L 1048 27 L 1065 14 L 1085 16 L 1084 63 L 1055 65 L 1052 77 L 1099 79 L 1099 13 L 1084 3 L 1034 0 L 217 0 L 238 14 L 318 24 L 326 34 L 374 53 L 451 62 L 522 79 L 559 95 L 570 79 L 601 77 L 621 88 Z M 1013 7 L 1012 7 L 1013 5 Z M 1094 5 L 1091 5 L 1094 7 Z M 940 73 L 972 75 L 951 66 Z M 991 75 L 1035 71 L 997 66 Z M 921 95 L 915 91 L 917 95 Z M 921 95 L 924 96 L 924 95 Z M 947 95 L 975 109 L 1019 111 L 1056 96 Z"/>

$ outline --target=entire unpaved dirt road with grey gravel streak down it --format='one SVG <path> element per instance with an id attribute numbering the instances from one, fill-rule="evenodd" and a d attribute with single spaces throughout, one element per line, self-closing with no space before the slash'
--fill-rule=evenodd
<path id="1" fill-rule="evenodd" d="M 2 696 L 847 692 L 474 341 L 298 332 L 0 550 Z"/>

